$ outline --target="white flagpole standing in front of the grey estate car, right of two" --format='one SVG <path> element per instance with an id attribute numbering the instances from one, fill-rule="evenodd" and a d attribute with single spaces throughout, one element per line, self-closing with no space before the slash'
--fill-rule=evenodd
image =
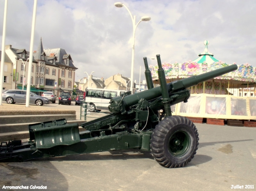
<path id="1" fill-rule="evenodd" d="M 30 50 L 29 50 L 29 63 L 28 63 L 26 107 L 29 107 L 29 98 L 30 98 L 30 83 L 31 83 L 31 68 L 32 68 L 32 62 L 33 62 L 33 43 L 34 43 L 34 32 L 35 32 L 36 5 L 37 5 L 37 0 L 34 0 Z"/>

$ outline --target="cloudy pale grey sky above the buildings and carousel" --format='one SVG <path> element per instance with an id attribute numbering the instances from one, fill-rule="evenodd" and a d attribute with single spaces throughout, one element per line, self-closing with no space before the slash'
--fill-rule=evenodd
<path id="1" fill-rule="evenodd" d="M 33 50 L 40 38 L 44 49 L 61 48 L 70 54 L 75 81 L 115 74 L 130 78 L 133 23 L 125 7 L 115 0 L 38 0 Z M 208 40 L 208 51 L 227 64 L 256 67 L 255 0 L 125 0 L 140 22 L 135 32 L 134 80 L 144 77 L 144 61 L 184 63 L 198 58 Z M 5 0 L 0 0 L 2 39 Z M 8 0 L 5 44 L 30 50 L 33 0 Z M 2 46 L 2 41 L 0 42 Z"/>

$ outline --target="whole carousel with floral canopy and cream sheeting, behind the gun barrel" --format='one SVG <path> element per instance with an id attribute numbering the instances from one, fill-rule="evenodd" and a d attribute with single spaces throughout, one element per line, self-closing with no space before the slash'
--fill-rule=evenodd
<path id="1" fill-rule="evenodd" d="M 212 53 L 208 52 L 209 41 L 204 41 L 204 45 L 204 52 L 198 54 L 199 57 L 194 61 L 174 64 L 165 62 L 162 64 L 167 83 L 229 66 L 229 64 L 217 60 Z M 156 65 L 149 68 L 153 82 L 157 86 L 159 84 L 158 67 Z M 191 87 L 191 95 L 187 103 L 178 103 L 171 106 L 173 115 L 255 120 L 255 80 L 255 67 L 248 63 L 238 65 L 236 71 Z M 247 91 L 246 97 L 242 97 L 242 95 L 245 95 L 243 94 L 244 89 Z"/>

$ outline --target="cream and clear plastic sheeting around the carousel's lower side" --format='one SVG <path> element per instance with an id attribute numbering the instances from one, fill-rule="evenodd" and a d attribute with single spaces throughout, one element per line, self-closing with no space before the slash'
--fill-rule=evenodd
<path id="1" fill-rule="evenodd" d="M 191 94 L 171 107 L 173 115 L 216 119 L 256 119 L 256 97 Z"/>

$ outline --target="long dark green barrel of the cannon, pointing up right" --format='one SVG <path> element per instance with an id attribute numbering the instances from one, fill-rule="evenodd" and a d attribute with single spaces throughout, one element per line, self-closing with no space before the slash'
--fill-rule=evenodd
<path id="1" fill-rule="evenodd" d="M 230 66 L 222 67 L 220 69 L 216 69 L 214 71 L 206 72 L 204 74 L 191 76 L 189 78 L 185 78 L 182 80 L 170 82 L 170 83 L 167 83 L 167 89 L 169 93 L 179 91 L 179 90 L 184 90 L 186 88 L 195 86 L 198 83 L 232 72 L 236 69 L 237 69 L 237 65 L 233 64 Z M 115 97 L 110 100 L 109 111 L 113 113 L 118 113 L 118 112 L 121 112 L 121 108 L 123 109 L 125 108 L 125 110 L 127 111 L 127 109 L 130 106 L 137 104 L 142 98 L 144 98 L 147 101 L 150 101 L 160 96 L 162 96 L 162 92 L 161 92 L 161 87 L 158 86 L 145 91 L 141 91 L 139 93 L 125 96 L 121 104 L 120 104 L 120 101 L 122 98 Z"/>

